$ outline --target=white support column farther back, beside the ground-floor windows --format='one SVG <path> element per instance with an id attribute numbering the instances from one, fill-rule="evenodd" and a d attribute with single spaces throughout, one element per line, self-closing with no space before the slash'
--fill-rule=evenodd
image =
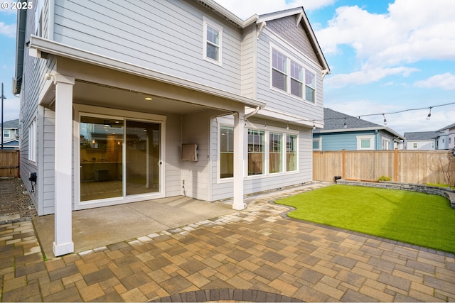
<path id="1" fill-rule="evenodd" d="M 245 150 L 245 111 L 234 114 L 234 203 L 232 209 L 245 209 L 243 202 L 243 174 Z"/>

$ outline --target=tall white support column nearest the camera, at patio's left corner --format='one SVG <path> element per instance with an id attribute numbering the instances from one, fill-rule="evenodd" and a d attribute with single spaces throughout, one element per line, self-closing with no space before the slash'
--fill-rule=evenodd
<path id="1" fill-rule="evenodd" d="M 73 77 L 55 76 L 55 256 L 74 252 L 72 204 Z"/>

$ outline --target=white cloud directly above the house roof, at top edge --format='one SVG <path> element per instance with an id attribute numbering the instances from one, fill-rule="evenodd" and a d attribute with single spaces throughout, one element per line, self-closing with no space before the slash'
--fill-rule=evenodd
<path id="1" fill-rule="evenodd" d="M 246 19 L 254 14 L 273 13 L 303 6 L 305 11 L 314 11 L 333 4 L 336 0 L 215 0 L 236 16 Z"/>

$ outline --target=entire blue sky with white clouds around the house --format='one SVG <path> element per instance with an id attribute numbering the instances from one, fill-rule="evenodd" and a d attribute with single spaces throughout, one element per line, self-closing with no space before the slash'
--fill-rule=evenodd
<path id="1" fill-rule="evenodd" d="M 331 75 L 324 106 L 352 116 L 386 113 L 387 126 L 436 131 L 455 123 L 455 1 L 216 0 L 240 18 L 304 6 Z M 4 121 L 18 118 L 11 94 L 16 12 L 0 9 L 0 82 Z M 400 114 L 389 114 L 405 111 Z M 382 124 L 383 116 L 363 119 Z"/>

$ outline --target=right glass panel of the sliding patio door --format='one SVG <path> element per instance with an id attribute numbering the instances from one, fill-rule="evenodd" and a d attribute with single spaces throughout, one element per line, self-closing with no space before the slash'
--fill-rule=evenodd
<path id="1" fill-rule="evenodd" d="M 160 124 L 127 121 L 126 195 L 159 192 Z"/>

